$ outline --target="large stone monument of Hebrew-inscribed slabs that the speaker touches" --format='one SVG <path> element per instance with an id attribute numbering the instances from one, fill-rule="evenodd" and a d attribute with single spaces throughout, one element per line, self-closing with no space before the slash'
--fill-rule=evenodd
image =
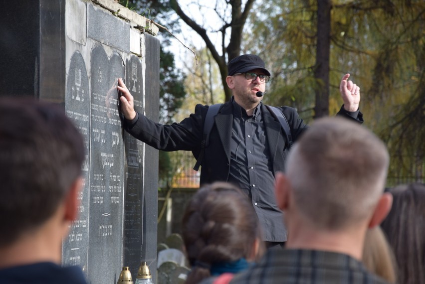
<path id="1" fill-rule="evenodd" d="M 158 151 L 123 131 L 116 84 L 123 78 L 136 109 L 158 121 L 158 29 L 114 0 L 0 4 L 0 96 L 61 104 L 84 137 L 63 264 L 81 266 L 89 283 L 116 283 L 123 266 L 135 279 L 146 261 L 156 283 Z"/>

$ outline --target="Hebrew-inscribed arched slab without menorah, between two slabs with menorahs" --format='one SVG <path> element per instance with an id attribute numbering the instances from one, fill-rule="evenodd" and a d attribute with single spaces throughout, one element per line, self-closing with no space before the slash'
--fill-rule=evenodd
<path id="1" fill-rule="evenodd" d="M 118 280 L 122 267 L 124 144 L 118 115 L 116 77 L 121 57 L 101 45 L 91 51 L 90 216 L 88 282 Z"/>

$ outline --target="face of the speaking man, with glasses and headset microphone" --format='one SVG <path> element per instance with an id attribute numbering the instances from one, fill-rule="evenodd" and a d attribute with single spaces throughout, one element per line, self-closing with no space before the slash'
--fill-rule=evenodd
<path id="1" fill-rule="evenodd" d="M 255 73 L 257 75 L 265 75 L 261 69 L 249 70 L 247 73 Z M 258 91 L 264 92 L 265 82 L 261 82 L 257 76 L 255 80 L 248 80 L 245 78 L 245 73 L 239 75 L 233 75 L 232 83 L 229 84 L 229 88 L 233 92 L 233 96 L 236 102 L 241 106 L 252 106 L 257 105 L 262 97 L 257 97 Z"/>

